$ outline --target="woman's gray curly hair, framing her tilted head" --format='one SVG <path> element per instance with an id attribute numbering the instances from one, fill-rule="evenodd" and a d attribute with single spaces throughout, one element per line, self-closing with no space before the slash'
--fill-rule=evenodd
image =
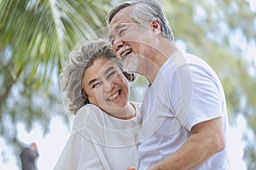
<path id="1" fill-rule="evenodd" d="M 111 43 L 98 39 L 90 42 L 80 42 L 69 54 L 66 65 L 61 73 L 61 87 L 63 95 L 68 102 L 69 111 L 76 114 L 81 107 L 89 104 L 87 95 L 82 88 L 84 69 L 93 64 L 97 58 L 113 59 L 122 68 L 119 60 L 115 58 Z M 123 72 L 128 81 L 135 80 L 135 74 Z"/>

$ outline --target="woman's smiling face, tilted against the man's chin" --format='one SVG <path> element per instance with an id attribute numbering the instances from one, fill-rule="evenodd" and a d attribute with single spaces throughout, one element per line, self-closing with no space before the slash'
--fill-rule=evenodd
<path id="1" fill-rule="evenodd" d="M 119 117 L 129 99 L 128 81 L 119 66 L 111 59 L 99 57 L 84 69 L 82 86 L 90 104 Z"/>

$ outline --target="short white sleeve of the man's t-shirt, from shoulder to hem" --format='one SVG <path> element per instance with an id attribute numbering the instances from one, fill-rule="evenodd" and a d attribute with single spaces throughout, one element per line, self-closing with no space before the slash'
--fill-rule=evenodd
<path id="1" fill-rule="evenodd" d="M 177 125 L 189 131 L 195 124 L 222 116 L 218 79 L 201 59 L 179 62 L 169 79 L 171 110 Z M 173 62 L 175 63 L 175 62 Z"/>

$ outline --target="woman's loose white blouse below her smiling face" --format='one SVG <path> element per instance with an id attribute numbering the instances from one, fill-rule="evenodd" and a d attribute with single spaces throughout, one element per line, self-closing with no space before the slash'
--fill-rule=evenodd
<path id="1" fill-rule="evenodd" d="M 130 120 L 109 116 L 95 105 L 82 107 L 55 170 L 125 170 L 138 167 L 137 133 L 140 104 L 132 102 L 137 116 Z"/>

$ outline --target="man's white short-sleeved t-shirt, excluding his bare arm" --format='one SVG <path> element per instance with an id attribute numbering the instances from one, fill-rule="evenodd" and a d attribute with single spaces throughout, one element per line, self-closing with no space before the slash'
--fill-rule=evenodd
<path id="1" fill-rule="evenodd" d="M 191 54 L 177 53 L 166 60 L 146 91 L 141 113 L 140 170 L 172 155 L 199 122 L 221 116 L 227 139 L 222 84 L 204 60 Z M 227 147 L 196 169 L 229 169 Z"/>

